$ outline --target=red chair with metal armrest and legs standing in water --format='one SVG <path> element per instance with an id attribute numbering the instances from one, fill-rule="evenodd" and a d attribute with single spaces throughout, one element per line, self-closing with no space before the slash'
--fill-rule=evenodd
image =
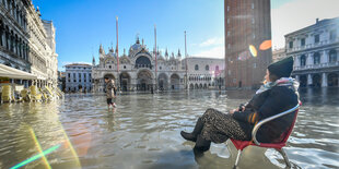
<path id="1" fill-rule="evenodd" d="M 301 106 L 301 102 L 299 102 L 295 107 L 293 107 L 293 108 L 290 109 L 290 110 L 283 111 L 283 112 L 281 112 L 281 113 L 278 113 L 278 114 L 276 114 L 276 116 L 272 116 L 272 117 L 269 117 L 269 118 L 266 118 L 266 119 L 259 121 L 259 122 L 254 126 L 254 129 L 253 129 L 253 131 L 252 131 L 252 140 L 253 140 L 253 141 L 237 141 L 237 140 L 231 138 L 232 143 L 234 144 L 235 148 L 237 149 L 237 156 L 236 156 L 236 160 L 235 160 L 235 164 L 234 164 L 234 168 L 236 168 L 237 165 L 238 165 L 238 161 L 239 161 L 239 158 L 241 158 L 241 155 L 242 155 L 242 150 L 243 150 L 244 148 L 246 148 L 247 146 L 249 146 L 249 145 L 254 145 L 254 146 L 258 146 L 258 147 L 265 147 L 265 148 L 274 148 L 274 149 L 277 149 L 277 150 L 282 155 L 282 157 L 283 157 L 283 159 L 284 159 L 287 166 L 288 166 L 289 168 L 291 168 L 291 162 L 290 162 L 290 160 L 289 160 L 289 158 L 288 158 L 285 152 L 282 149 L 282 147 L 284 147 L 284 146 L 287 145 L 287 141 L 288 141 L 288 138 L 290 137 L 290 135 L 291 135 L 291 133 L 292 133 L 292 130 L 293 130 L 293 128 L 294 128 L 294 123 L 295 123 L 295 121 L 296 121 L 297 111 L 299 111 L 299 107 L 300 107 L 300 106 Z M 274 120 L 274 119 L 277 119 L 277 118 L 280 118 L 280 117 L 282 117 L 282 116 L 285 116 L 285 114 L 288 114 L 288 113 L 291 113 L 291 112 L 293 112 L 293 111 L 295 111 L 293 122 L 292 122 L 290 129 L 283 134 L 284 137 L 283 137 L 283 140 L 282 140 L 280 143 L 259 143 L 259 142 L 257 141 L 256 134 L 257 134 L 257 131 L 259 130 L 259 128 L 260 128 L 262 124 L 265 124 L 265 123 L 267 123 L 267 122 L 269 122 L 269 121 L 272 121 L 272 120 Z"/>

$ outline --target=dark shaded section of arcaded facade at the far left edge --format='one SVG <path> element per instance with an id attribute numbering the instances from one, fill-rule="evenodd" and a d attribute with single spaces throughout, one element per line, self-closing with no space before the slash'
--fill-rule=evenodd
<path id="1" fill-rule="evenodd" d="M 0 0 L 0 63 L 25 72 L 31 72 L 26 20 L 30 4 L 28 0 Z M 27 81 L 16 83 L 27 85 Z"/>

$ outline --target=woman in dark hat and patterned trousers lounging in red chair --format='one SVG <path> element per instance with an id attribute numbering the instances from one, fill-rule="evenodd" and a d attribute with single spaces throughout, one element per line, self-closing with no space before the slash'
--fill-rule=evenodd
<path id="1" fill-rule="evenodd" d="M 229 138 L 250 141 L 254 125 L 266 118 L 293 108 L 299 102 L 299 83 L 290 77 L 293 58 L 287 58 L 267 68 L 264 85 L 249 102 L 238 109 L 222 113 L 207 109 L 191 133 L 182 131 L 187 141 L 196 142 L 195 153 L 209 150 L 211 142 L 223 143 Z M 294 113 L 280 117 L 262 125 L 257 140 L 261 143 L 276 143 L 291 126 Z"/>

